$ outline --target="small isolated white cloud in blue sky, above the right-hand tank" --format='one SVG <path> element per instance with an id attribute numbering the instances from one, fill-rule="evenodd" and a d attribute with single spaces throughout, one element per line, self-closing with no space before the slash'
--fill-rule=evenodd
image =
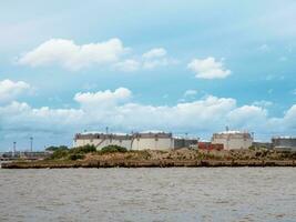
<path id="1" fill-rule="evenodd" d="M 213 57 L 193 59 L 187 68 L 200 79 L 224 79 L 231 74 L 231 70 L 225 69 L 223 61 L 216 61 Z"/>

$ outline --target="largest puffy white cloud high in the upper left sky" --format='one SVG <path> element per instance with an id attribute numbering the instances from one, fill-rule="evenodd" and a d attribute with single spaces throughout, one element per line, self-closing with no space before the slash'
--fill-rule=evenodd
<path id="1" fill-rule="evenodd" d="M 92 64 L 116 62 L 125 51 L 120 39 L 81 46 L 72 40 L 51 39 L 23 54 L 19 63 L 31 67 L 59 64 L 70 70 L 79 70 Z"/>

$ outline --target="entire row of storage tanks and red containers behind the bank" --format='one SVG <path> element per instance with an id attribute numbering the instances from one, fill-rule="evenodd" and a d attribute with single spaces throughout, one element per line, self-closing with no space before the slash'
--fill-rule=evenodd
<path id="1" fill-rule="evenodd" d="M 296 151 L 296 138 L 274 137 L 272 142 L 254 142 L 247 131 L 229 131 L 214 133 L 211 142 L 201 142 L 198 138 L 174 137 L 161 131 L 135 133 L 83 132 L 76 133 L 73 147 L 94 145 L 101 150 L 108 145 L 120 145 L 127 150 L 173 150 L 192 148 L 201 150 L 237 150 L 254 148 L 274 149 L 278 151 Z"/>

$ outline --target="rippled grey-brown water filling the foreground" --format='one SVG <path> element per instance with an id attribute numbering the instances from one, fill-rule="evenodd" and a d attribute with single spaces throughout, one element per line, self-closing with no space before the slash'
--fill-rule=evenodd
<path id="1" fill-rule="evenodd" d="M 296 221 L 296 169 L 1 169 L 0 221 Z"/>

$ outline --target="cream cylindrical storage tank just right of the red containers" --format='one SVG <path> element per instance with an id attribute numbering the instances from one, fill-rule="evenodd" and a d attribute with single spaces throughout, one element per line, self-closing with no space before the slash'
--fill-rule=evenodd
<path id="1" fill-rule="evenodd" d="M 224 150 L 248 149 L 252 147 L 253 137 L 248 132 L 225 131 L 214 133 L 213 144 L 223 144 Z"/>

